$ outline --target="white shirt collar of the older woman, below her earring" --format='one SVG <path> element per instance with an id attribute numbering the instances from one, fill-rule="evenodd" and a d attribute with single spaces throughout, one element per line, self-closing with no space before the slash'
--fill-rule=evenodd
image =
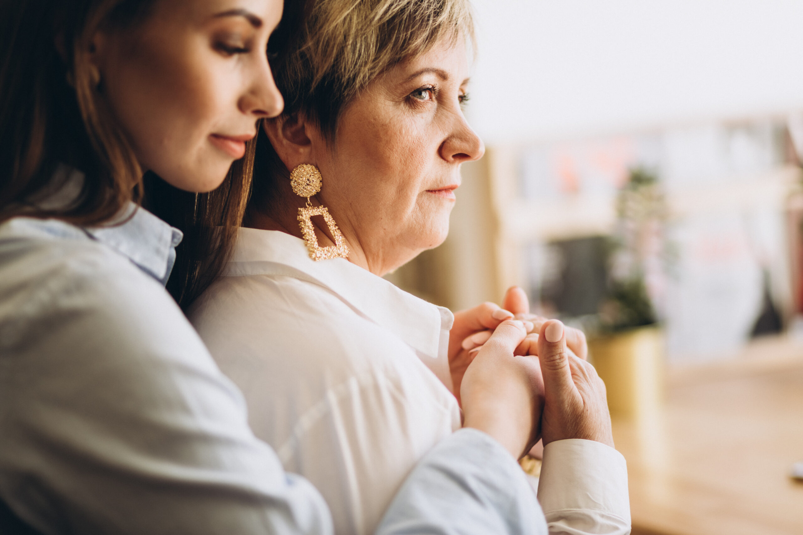
<path id="1" fill-rule="evenodd" d="M 422 355 L 446 358 L 454 315 L 345 258 L 312 261 L 300 238 L 275 230 L 239 229 L 223 274 L 287 275 L 324 286 Z"/>

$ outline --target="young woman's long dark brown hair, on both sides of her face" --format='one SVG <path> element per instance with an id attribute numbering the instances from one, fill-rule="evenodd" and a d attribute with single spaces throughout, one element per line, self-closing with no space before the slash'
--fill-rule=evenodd
<path id="1" fill-rule="evenodd" d="M 130 28 L 156 0 L 0 0 L 0 222 L 17 215 L 100 225 L 142 202 L 185 232 L 168 290 L 192 302 L 226 264 L 251 191 L 255 142 L 222 186 L 195 194 L 143 178 L 100 99 L 88 52 L 99 29 Z M 70 205 L 43 209 L 59 164 L 84 172 Z M 66 174 L 65 174 L 66 177 Z"/>

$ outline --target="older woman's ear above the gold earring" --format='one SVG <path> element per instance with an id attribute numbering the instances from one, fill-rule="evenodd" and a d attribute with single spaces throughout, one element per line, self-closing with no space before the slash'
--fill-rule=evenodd
<path id="1" fill-rule="evenodd" d="M 299 114 L 263 120 L 263 130 L 287 169 L 300 164 L 316 164 L 317 128 Z"/>

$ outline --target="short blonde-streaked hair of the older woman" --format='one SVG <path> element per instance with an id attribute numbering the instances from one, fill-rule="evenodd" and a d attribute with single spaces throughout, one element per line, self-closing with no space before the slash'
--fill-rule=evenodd
<path id="1" fill-rule="evenodd" d="M 345 103 L 441 39 L 474 42 L 468 0 L 285 0 L 268 51 L 285 115 L 333 137 Z"/>

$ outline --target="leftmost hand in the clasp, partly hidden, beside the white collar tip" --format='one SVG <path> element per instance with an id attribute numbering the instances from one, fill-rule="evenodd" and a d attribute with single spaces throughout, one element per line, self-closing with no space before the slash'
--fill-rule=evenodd
<path id="1" fill-rule="evenodd" d="M 449 371 L 458 403 L 461 403 L 460 383 L 463 381 L 463 374 L 477 355 L 477 351 L 471 350 L 487 342 L 499 323 L 512 318 L 512 312 L 503 310 L 492 302 L 484 302 L 472 309 L 461 310 L 454 314 L 454 325 L 449 332 Z M 525 327 L 528 328 L 528 332 L 532 331 L 532 322 L 527 322 Z M 482 339 L 482 343 L 463 343 L 467 339 L 473 340 L 473 337 L 479 337 L 477 339 Z"/>

